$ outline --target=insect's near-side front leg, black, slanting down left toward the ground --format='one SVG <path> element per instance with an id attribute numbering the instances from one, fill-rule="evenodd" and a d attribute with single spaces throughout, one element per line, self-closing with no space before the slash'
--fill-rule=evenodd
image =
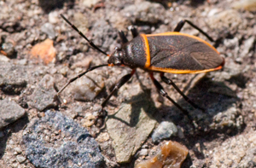
<path id="1" fill-rule="evenodd" d="M 133 69 L 131 71 L 131 73 L 125 75 L 124 77 L 120 78 L 119 82 L 117 84 L 114 85 L 113 90 L 111 91 L 111 93 L 108 95 L 108 97 L 105 99 L 105 101 L 102 102 L 102 109 L 106 106 L 108 100 L 110 99 L 111 96 L 113 96 L 113 94 L 119 90 L 119 88 L 124 85 L 126 82 L 129 81 L 129 79 L 132 77 L 132 75 L 135 73 L 135 69 Z M 102 111 L 102 110 L 101 110 Z"/>

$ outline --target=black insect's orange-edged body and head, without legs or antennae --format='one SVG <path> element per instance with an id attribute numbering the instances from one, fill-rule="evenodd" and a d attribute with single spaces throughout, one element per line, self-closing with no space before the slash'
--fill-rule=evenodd
<path id="1" fill-rule="evenodd" d="M 218 70 L 224 59 L 211 44 L 180 32 L 141 34 L 116 48 L 108 64 L 146 71 L 199 73 Z"/>

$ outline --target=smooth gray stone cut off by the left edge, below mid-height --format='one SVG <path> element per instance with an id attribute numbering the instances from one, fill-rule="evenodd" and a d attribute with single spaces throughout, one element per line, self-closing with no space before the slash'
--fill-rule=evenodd
<path id="1" fill-rule="evenodd" d="M 0 100 L 0 129 L 20 119 L 24 114 L 25 110 L 15 101 Z"/>

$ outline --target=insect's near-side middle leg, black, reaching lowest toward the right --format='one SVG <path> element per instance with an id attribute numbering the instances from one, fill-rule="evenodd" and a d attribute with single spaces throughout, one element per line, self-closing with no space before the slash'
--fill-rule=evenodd
<path id="1" fill-rule="evenodd" d="M 164 96 L 164 97 L 166 97 L 169 101 L 172 101 L 172 103 L 173 103 L 178 109 L 180 109 L 180 110 L 183 112 L 184 115 L 186 115 L 186 116 L 189 118 L 189 120 L 190 120 L 190 122 L 191 122 L 191 124 L 192 124 L 192 123 L 193 123 L 193 118 L 189 115 L 189 112 L 188 112 L 187 110 L 183 109 L 183 107 L 179 106 L 179 105 L 177 104 L 177 102 L 173 101 L 173 99 L 172 99 L 170 96 L 168 96 L 168 94 L 167 94 L 166 91 L 164 90 L 163 86 L 154 78 L 152 72 L 150 73 L 150 78 L 152 79 L 152 81 L 153 81 L 153 83 L 154 83 L 154 86 L 157 88 L 157 90 L 159 90 L 161 96 Z"/>

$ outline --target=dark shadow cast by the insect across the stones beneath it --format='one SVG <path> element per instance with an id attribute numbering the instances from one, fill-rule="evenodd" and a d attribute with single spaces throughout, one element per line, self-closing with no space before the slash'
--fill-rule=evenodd
<path id="1" fill-rule="evenodd" d="M 183 128 L 191 128 L 191 125 L 189 126 L 189 120 L 186 119 L 184 114 L 174 105 L 170 106 L 169 104 L 166 105 L 163 103 L 160 107 L 155 107 L 154 100 L 151 98 L 151 90 L 147 89 L 138 78 L 137 80 L 143 91 L 136 96 L 131 96 L 129 100 L 124 101 L 119 107 L 119 110 L 122 110 L 121 108 L 124 107 L 124 104 L 131 104 L 130 121 L 127 122 L 127 119 L 117 117 L 118 115 L 116 114 L 119 113 L 119 110 L 114 114 L 108 114 L 108 119 L 117 119 L 125 125 L 134 127 L 139 122 L 139 116 L 143 109 L 151 119 L 155 119 L 158 123 L 161 121 L 172 121 L 175 125 L 180 125 Z M 193 80 L 193 78 L 191 80 Z M 191 81 L 187 84 L 187 88 L 189 88 L 190 82 Z M 199 79 L 192 88 L 189 88 L 187 96 L 192 101 L 199 102 L 201 107 L 206 109 L 205 112 L 202 112 L 192 107 L 182 96 L 177 100 L 177 103 L 187 109 L 190 115 L 195 119 L 198 125 L 197 130 L 199 131 L 205 130 L 207 126 L 211 125 L 215 115 L 220 112 L 225 112 L 232 107 L 233 103 L 239 101 L 239 98 L 236 97 L 236 92 L 231 90 L 223 82 L 213 81 L 206 77 Z M 129 112 L 127 111 L 127 113 Z M 203 118 L 197 119 L 198 115 L 203 116 Z M 186 129 L 184 130 L 186 132 Z"/>

